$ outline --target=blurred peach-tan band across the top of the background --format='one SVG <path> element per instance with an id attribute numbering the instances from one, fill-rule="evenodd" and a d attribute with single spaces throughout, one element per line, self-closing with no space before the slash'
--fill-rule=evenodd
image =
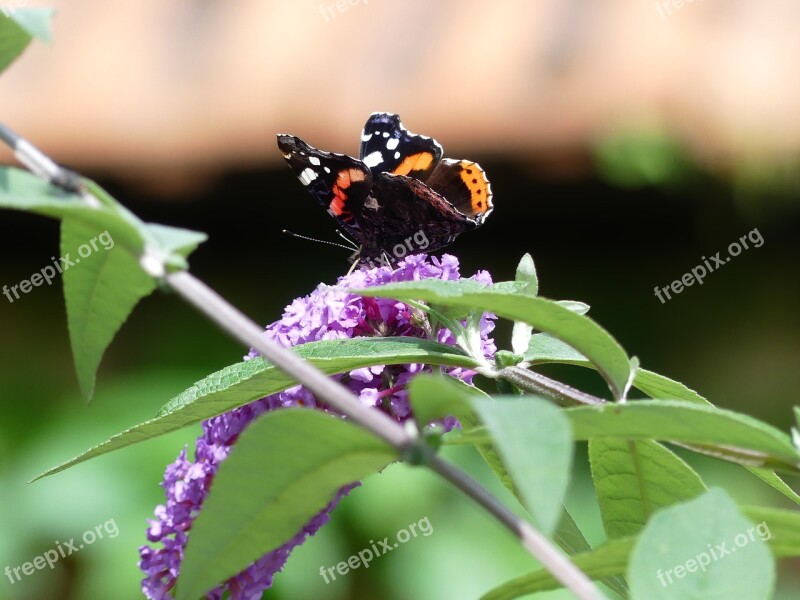
<path id="1" fill-rule="evenodd" d="M 374 110 L 521 161 L 632 126 L 720 169 L 800 147 L 792 0 L 39 4 L 58 10 L 56 42 L 0 81 L 0 113 L 114 175 L 263 166 L 287 128 L 354 150 Z"/>

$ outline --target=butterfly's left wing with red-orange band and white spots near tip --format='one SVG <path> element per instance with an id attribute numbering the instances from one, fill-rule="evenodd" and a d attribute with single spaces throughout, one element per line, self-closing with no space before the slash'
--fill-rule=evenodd
<path id="1" fill-rule="evenodd" d="M 292 135 L 279 135 L 278 148 L 309 193 L 342 228 L 361 241 L 356 220 L 372 188 L 372 173 L 360 160 L 323 152 Z"/>

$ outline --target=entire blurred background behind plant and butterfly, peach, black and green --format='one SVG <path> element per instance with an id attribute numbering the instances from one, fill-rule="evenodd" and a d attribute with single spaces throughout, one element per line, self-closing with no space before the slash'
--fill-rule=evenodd
<path id="1" fill-rule="evenodd" d="M 0 0 L 2 5 L 3 0 Z M 30 2 L 30 5 L 44 3 Z M 465 275 L 585 301 L 642 364 L 788 431 L 800 388 L 800 4 L 792 0 L 71 0 L 53 44 L 0 77 L 0 121 L 144 219 L 209 233 L 192 270 L 266 324 L 346 268 L 329 217 L 275 135 L 355 153 L 373 111 L 478 160 L 496 210 L 450 249 Z M 677 6 L 676 6 L 677 5 Z M 0 150 L 0 162 L 11 161 Z M 758 228 L 751 248 L 665 304 L 666 286 Z M 0 285 L 49 264 L 58 226 L 0 214 Z M 508 347 L 509 328 L 498 328 Z M 244 353 L 176 298 L 146 299 L 84 407 L 59 286 L 0 297 L 0 569 L 115 517 L 120 536 L 0 598 L 140 597 L 145 519 L 197 429 L 25 482 Z M 555 375 L 604 393 L 596 377 Z M 464 459 L 466 460 L 466 459 Z M 785 506 L 740 469 L 690 458 L 741 502 Z M 602 540 L 585 462 L 570 508 Z M 387 471 L 292 557 L 268 598 L 472 598 L 531 564 L 440 484 Z M 796 481 L 790 481 L 797 486 Z M 437 509 L 437 506 L 444 507 Z M 325 586 L 331 564 L 428 514 L 438 535 Z M 294 562 L 292 562 L 294 561 Z M 776 597 L 797 598 L 785 561 Z M 543 598 L 564 598 L 545 595 Z"/>

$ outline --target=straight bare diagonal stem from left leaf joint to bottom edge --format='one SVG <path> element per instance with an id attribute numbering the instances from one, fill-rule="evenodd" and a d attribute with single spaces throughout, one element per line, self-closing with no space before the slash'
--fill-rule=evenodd
<path id="1" fill-rule="evenodd" d="M 405 454 L 417 442 L 402 425 L 388 415 L 366 407 L 343 385 L 330 379 L 294 352 L 265 338 L 263 329 L 224 298 L 186 271 L 166 275 L 169 286 L 184 300 L 217 323 L 226 333 L 258 351 L 265 359 L 295 378 L 320 400 L 391 444 Z M 580 600 L 601 600 L 592 581 L 564 556 L 544 535 L 512 513 L 469 475 L 427 449 L 425 464 L 473 498 L 494 515 L 522 542 L 523 547 Z"/>

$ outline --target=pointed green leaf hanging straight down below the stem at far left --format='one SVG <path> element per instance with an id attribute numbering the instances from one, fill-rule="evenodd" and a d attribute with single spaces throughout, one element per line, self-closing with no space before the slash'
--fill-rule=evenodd
<path id="1" fill-rule="evenodd" d="M 81 390 L 90 400 L 103 353 L 155 281 L 108 231 L 71 218 L 61 224 L 61 256 L 72 354 Z"/>

